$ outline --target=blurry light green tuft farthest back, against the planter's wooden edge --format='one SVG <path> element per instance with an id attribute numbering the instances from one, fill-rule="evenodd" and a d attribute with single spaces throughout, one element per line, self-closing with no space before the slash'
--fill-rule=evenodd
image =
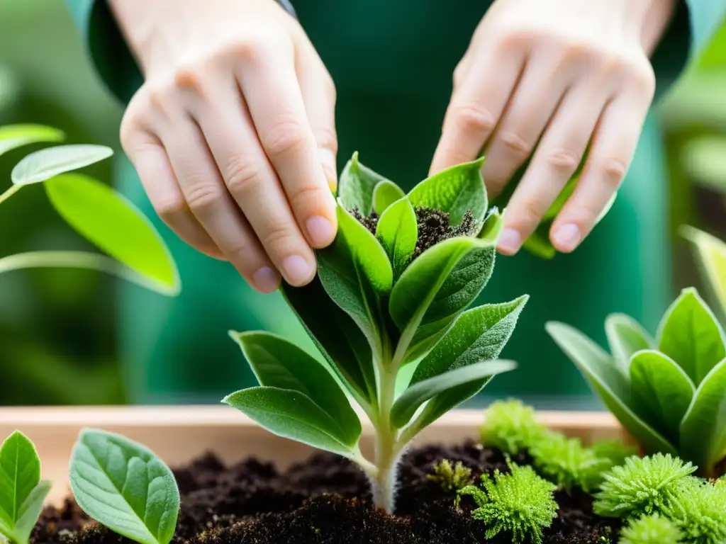
<path id="1" fill-rule="evenodd" d="M 481 442 L 516 455 L 529 450 L 546 432 L 537 422 L 534 408 L 520 400 L 497 400 L 486 410 L 486 420 L 481 426 Z"/>

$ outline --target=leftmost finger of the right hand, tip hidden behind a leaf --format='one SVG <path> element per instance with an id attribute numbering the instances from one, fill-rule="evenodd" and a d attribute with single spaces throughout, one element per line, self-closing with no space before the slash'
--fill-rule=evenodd
<path id="1" fill-rule="evenodd" d="M 514 47 L 482 48 L 478 58 L 470 61 L 446 110 L 429 175 L 476 160 L 505 109 L 523 64 L 523 52 Z"/>

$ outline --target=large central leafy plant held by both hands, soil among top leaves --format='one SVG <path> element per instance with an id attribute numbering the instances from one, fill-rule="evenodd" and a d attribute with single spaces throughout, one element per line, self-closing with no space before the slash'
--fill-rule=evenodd
<path id="1" fill-rule="evenodd" d="M 481 164 L 449 168 L 404 194 L 354 154 L 340 176 L 338 235 L 317 251 L 317 278 L 282 287 L 322 362 L 272 334 L 231 333 L 261 387 L 223 402 L 274 434 L 355 461 L 388 512 L 407 444 L 515 368 L 496 359 L 528 297 L 467 310 L 492 275 L 502 228 Z M 359 449 L 348 396 L 375 429 L 372 459 Z"/>

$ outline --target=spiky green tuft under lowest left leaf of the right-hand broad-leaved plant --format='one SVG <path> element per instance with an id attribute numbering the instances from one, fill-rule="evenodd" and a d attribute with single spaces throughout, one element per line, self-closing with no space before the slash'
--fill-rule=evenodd
<path id="1" fill-rule="evenodd" d="M 669 454 L 629 457 L 603 474 L 592 509 L 598 516 L 621 518 L 662 512 L 695 470 Z"/>

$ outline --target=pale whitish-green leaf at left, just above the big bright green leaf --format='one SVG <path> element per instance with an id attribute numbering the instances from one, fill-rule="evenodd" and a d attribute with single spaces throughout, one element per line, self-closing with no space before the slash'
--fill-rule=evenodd
<path id="1" fill-rule="evenodd" d="M 26 155 L 12 169 L 10 178 L 15 185 L 37 184 L 53 176 L 78 170 L 110 157 L 113 149 L 95 145 L 67 145 L 41 149 Z"/>

